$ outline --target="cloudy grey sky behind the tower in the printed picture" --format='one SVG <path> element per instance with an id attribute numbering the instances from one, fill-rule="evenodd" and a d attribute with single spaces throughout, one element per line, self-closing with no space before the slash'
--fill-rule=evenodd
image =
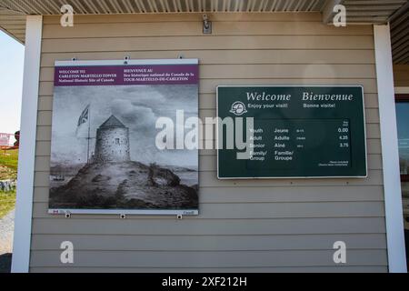
<path id="1" fill-rule="evenodd" d="M 79 116 L 91 105 L 91 137 L 111 115 L 129 127 L 131 159 L 145 164 L 198 166 L 197 151 L 160 151 L 155 146 L 159 117 L 176 120 L 198 115 L 197 85 L 56 86 L 53 111 L 52 166 L 86 162 L 88 125 L 77 131 Z M 90 153 L 95 152 L 95 139 Z"/>

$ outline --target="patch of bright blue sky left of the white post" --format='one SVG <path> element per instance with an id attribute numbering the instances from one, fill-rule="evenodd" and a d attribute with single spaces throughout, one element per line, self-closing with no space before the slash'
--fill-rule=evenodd
<path id="1" fill-rule="evenodd" d="M 0 31 L 0 133 L 20 129 L 25 47 Z"/>

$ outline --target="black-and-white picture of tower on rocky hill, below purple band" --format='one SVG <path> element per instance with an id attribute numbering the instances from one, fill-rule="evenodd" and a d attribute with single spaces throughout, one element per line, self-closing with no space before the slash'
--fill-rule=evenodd
<path id="1" fill-rule="evenodd" d="M 197 116 L 197 94 L 197 85 L 56 87 L 50 209 L 197 210 L 198 151 L 155 146 L 157 118 Z"/>

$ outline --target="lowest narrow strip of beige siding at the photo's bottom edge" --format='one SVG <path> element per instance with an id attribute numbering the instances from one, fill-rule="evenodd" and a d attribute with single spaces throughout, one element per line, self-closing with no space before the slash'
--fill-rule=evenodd
<path id="1" fill-rule="evenodd" d="M 287 267 L 32 267 L 31 273 L 387 273 L 387 266 L 287 266 Z"/>

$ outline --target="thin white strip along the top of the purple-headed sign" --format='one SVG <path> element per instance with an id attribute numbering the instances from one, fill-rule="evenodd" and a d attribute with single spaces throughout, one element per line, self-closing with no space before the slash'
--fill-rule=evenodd
<path id="1" fill-rule="evenodd" d="M 153 59 L 153 60 L 105 60 L 105 61 L 55 61 L 55 66 L 102 66 L 102 65 L 198 65 L 199 59 Z"/>

